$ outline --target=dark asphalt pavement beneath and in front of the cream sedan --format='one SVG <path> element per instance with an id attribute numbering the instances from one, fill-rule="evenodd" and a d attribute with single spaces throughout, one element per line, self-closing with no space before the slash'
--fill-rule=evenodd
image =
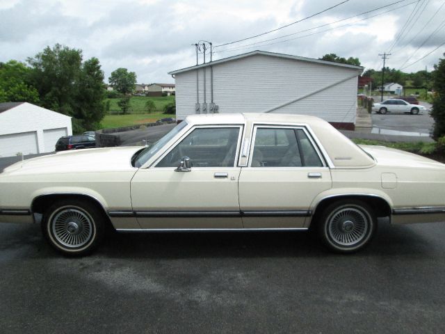
<path id="1" fill-rule="evenodd" d="M 445 223 L 355 255 L 307 232 L 113 234 L 66 258 L 0 225 L 1 333 L 444 333 Z"/>

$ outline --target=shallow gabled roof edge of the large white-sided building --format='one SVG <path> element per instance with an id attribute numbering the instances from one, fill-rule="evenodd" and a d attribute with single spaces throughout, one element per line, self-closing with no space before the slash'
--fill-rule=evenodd
<path id="1" fill-rule="evenodd" d="M 275 52 L 256 50 L 256 51 L 248 52 L 246 54 L 238 54 L 237 56 L 232 56 L 232 57 L 228 57 L 228 58 L 218 59 L 218 61 L 211 61 L 209 63 L 205 63 L 205 64 L 201 64 L 201 65 L 195 65 L 195 66 L 191 66 L 191 67 L 182 68 L 181 70 L 175 70 L 175 71 L 172 71 L 172 72 L 168 72 L 168 74 L 179 74 L 179 73 L 188 72 L 188 71 L 191 71 L 191 70 L 196 70 L 196 69 L 201 68 L 201 67 L 207 67 L 207 66 L 210 66 L 210 65 L 217 65 L 217 64 L 221 64 L 221 63 L 227 63 L 229 61 L 236 61 L 237 59 L 242 59 L 242 58 L 255 56 L 255 55 L 272 56 L 272 57 L 276 57 L 276 58 L 291 59 L 291 60 L 294 60 L 294 61 L 306 61 L 308 63 L 318 63 L 318 64 L 330 65 L 330 66 L 346 67 L 346 68 L 350 68 L 350 69 L 353 69 L 353 70 L 360 70 L 360 71 L 362 71 L 364 69 L 364 67 L 362 67 L 362 66 L 334 63 L 332 61 L 321 61 L 320 59 L 306 58 L 306 57 L 300 57 L 300 56 L 292 56 L 290 54 L 277 54 Z"/>

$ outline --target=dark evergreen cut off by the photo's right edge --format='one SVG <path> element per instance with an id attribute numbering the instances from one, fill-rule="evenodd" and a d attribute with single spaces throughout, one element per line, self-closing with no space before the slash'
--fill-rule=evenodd
<path id="1" fill-rule="evenodd" d="M 445 54 L 444 54 L 445 56 Z M 435 120 L 432 138 L 445 136 L 445 59 L 441 58 L 435 65 L 432 77 L 432 88 L 435 90 L 432 98 L 431 116 Z"/>

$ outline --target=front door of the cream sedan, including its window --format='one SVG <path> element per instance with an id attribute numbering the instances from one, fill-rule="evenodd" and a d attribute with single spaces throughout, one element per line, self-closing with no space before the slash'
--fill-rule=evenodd
<path id="1" fill-rule="evenodd" d="M 131 181 L 133 212 L 143 229 L 242 228 L 236 157 L 241 125 L 190 129 Z M 188 157 L 190 168 L 178 168 Z"/>

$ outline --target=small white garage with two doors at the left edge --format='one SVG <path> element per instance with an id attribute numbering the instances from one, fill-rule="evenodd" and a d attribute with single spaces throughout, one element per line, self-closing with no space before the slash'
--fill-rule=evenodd
<path id="1" fill-rule="evenodd" d="M 0 103 L 0 157 L 54 151 L 72 134 L 71 117 L 27 102 Z"/>

